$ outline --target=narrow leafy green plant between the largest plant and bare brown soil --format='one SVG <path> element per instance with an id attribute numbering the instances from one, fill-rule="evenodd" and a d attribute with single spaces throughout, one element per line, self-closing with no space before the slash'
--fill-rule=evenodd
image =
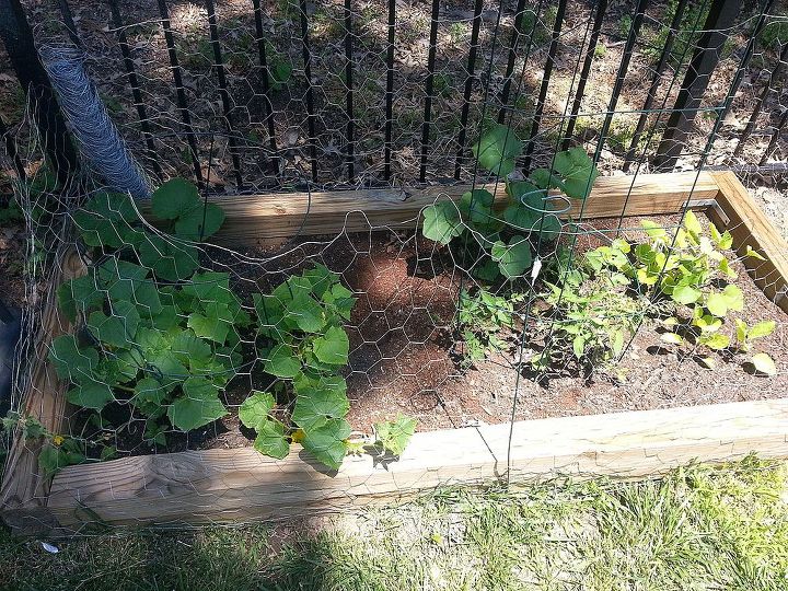
<path id="1" fill-rule="evenodd" d="M 254 393 L 242 405 L 241 420 L 257 431 L 255 449 L 262 453 L 283 457 L 296 436 L 326 466 L 341 464 L 350 434 L 347 384 L 339 374 L 349 351 L 343 323 L 355 303 L 339 276 L 324 266 L 290 277 L 269 296 L 254 294 L 265 371 L 296 398 L 291 425 L 271 415 L 277 403 L 271 392 Z"/>

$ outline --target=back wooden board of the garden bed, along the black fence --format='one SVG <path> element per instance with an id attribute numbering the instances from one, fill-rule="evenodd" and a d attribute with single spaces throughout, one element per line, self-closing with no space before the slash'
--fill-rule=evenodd
<path id="1" fill-rule="evenodd" d="M 292 193 L 210 197 L 227 215 L 224 225 L 211 241 L 221 244 L 276 243 L 301 235 L 336 234 L 343 230 L 415 228 L 419 211 L 442 199 L 459 199 L 471 185 L 429 186 L 419 189 L 364 189 L 329 193 Z M 503 184 L 478 185 L 495 193 L 502 204 Z M 707 173 L 602 176 L 591 195 L 572 200 L 569 215 L 577 219 L 650 216 L 681 211 L 687 199 L 714 199 L 717 184 Z M 142 209 L 143 213 L 147 210 Z"/>

